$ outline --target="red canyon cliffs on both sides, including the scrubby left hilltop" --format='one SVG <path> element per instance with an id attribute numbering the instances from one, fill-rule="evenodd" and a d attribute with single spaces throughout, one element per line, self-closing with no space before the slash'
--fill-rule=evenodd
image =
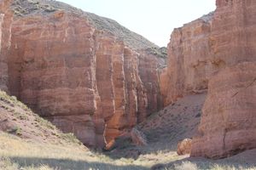
<path id="1" fill-rule="evenodd" d="M 256 148 L 253 0 L 217 0 L 214 12 L 175 29 L 167 60 L 163 48 L 114 20 L 65 3 L 0 3 L 0 88 L 86 146 L 103 148 L 137 125 L 147 135 L 164 126 L 152 125 L 160 119 L 148 120 L 153 113 L 172 122 L 176 102 L 195 99 L 186 101 L 190 115 L 188 106 L 175 113 L 196 118 L 193 133 L 183 133 L 193 138 L 191 157 Z"/>

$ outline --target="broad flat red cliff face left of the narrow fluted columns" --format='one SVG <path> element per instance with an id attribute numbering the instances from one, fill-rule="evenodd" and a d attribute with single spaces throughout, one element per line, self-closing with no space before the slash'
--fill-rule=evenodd
<path id="1" fill-rule="evenodd" d="M 12 31 L 11 94 L 84 144 L 102 143 L 92 117 L 99 95 L 95 30 L 88 21 L 56 12 L 15 20 Z"/>

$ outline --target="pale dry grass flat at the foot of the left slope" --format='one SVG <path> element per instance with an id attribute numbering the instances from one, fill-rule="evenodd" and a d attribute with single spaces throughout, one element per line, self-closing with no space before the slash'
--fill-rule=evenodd
<path id="1" fill-rule="evenodd" d="M 129 159 L 113 160 L 78 144 L 45 144 L 0 133 L 0 169 L 148 169 Z"/>

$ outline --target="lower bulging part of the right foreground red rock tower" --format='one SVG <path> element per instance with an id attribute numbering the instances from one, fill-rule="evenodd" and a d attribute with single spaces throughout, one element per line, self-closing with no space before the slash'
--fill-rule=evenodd
<path id="1" fill-rule="evenodd" d="M 256 148 L 256 62 L 220 71 L 209 83 L 191 156 L 221 158 Z"/>

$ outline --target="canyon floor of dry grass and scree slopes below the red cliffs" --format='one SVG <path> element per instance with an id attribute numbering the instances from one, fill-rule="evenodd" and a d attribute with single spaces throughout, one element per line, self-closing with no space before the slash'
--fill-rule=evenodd
<path id="1" fill-rule="evenodd" d="M 138 125 L 148 145 L 124 143 L 109 152 L 87 149 L 15 97 L 0 94 L 0 127 L 7 132 L 0 133 L 0 169 L 256 169 L 256 150 L 218 161 L 177 156 L 177 142 L 196 132 L 206 94 L 180 99 Z"/>

